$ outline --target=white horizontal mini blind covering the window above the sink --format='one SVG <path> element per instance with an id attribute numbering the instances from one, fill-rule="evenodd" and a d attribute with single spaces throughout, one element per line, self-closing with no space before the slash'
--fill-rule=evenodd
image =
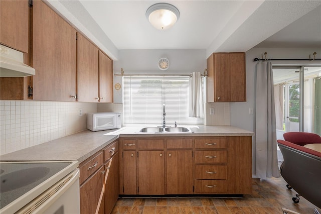
<path id="1" fill-rule="evenodd" d="M 123 76 L 124 124 L 204 125 L 188 117 L 189 76 Z"/>

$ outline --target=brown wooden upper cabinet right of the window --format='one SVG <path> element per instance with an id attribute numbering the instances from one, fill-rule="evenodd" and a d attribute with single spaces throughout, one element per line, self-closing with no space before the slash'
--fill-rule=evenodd
<path id="1" fill-rule="evenodd" d="M 213 53 L 207 72 L 207 102 L 246 101 L 244 52 Z"/>

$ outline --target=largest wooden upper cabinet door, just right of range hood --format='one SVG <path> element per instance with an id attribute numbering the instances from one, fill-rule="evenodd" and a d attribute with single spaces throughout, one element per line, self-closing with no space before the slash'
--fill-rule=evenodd
<path id="1" fill-rule="evenodd" d="M 75 101 L 76 31 L 42 1 L 33 5 L 33 99 Z"/>

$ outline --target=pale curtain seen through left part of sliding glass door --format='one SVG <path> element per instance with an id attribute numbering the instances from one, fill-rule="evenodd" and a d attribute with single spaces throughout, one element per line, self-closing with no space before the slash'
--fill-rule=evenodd
<path id="1" fill-rule="evenodd" d="M 283 130 L 284 108 L 283 108 L 284 85 L 274 85 L 275 122 L 276 129 Z"/>

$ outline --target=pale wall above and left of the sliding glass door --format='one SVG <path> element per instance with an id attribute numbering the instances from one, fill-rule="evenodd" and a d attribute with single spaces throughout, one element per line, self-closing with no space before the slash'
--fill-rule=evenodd
<path id="1" fill-rule="evenodd" d="M 253 128 L 254 115 L 249 114 L 249 109 L 254 108 L 254 74 L 255 57 L 261 58 L 261 55 L 267 52 L 267 58 L 273 59 L 299 59 L 308 58 L 309 55 L 313 58 L 313 52 L 318 53 L 316 58 L 321 58 L 321 48 L 252 48 L 246 52 L 246 102 L 231 102 L 230 103 L 230 120 L 231 125 L 242 129 L 255 132 Z M 302 65 L 302 64 L 321 64 L 321 61 L 298 61 L 298 60 L 273 60 L 273 65 Z M 255 110 L 254 110 L 255 111 Z M 254 112 L 255 113 L 255 112 Z M 255 171 L 255 136 L 252 138 L 252 157 L 253 157 L 253 175 Z"/>

